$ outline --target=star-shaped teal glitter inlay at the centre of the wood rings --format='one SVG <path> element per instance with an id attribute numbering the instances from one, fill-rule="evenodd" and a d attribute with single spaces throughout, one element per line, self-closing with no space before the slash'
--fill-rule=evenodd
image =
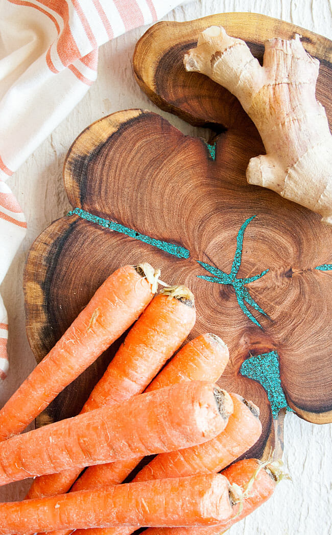
<path id="1" fill-rule="evenodd" d="M 214 268 L 214 266 L 211 266 L 210 264 L 206 264 L 205 262 L 199 262 L 197 261 L 206 271 L 209 271 L 213 275 L 213 277 L 208 277 L 206 275 L 198 275 L 199 279 L 208 280 L 210 282 L 217 282 L 217 284 L 229 284 L 233 286 L 235 289 L 235 295 L 238 302 L 238 305 L 240 306 L 241 310 L 244 312 L 246 316 L 258 327 L 262 328 L 260 323 L 257 321 L 257 319 L 251 314 L 248 307 L 246 307 L 245 303 L 250 305 L 254 310 L 257 310 L 260 312 L 260 314 L 267 316 L 266 312 L 262 310 L 262 308 L 259 306 L 259 304 L 254 301 L 249 293 L 249 290 L 245 287 L 246 284 L 250 284 L 250 282 L 253 282 L 254 280 L 258 280 L 261 277 L 264 277 L 264 275 L 268 272 L 268 269 L 265 271 L 262 271 L 258 275 L 255 275 L 253 277 L 248 278 L 237 278 L 238 270 L 241 266 L 242 261 L 242 248 L 243 248 L 243 237 L 244 237 L 244 231 L 246 227 L 249 225 L 250 221 L 252 221 L 256 216 L 249 217 L 246 219 L 241 226 L 240 230 L 237 233 L 236 237 L 236 251 L 235 256 L 233 260 L 233 265 L 231 266 L 230 273 L 225 273 L 225 271 L 222 271 L 221 269 Z"/>

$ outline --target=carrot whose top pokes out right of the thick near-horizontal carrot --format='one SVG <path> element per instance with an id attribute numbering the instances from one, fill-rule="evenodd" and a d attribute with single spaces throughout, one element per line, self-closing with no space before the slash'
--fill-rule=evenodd
<path id="1" fill-rule="evenodd" d="M 212 440 L 199 446 L 180 451 L 160 453 L 133 479 L 134 482 L 163 479 L 168 477 L 194 476 L 198 473 L 219 472 L 237 457 L 245 453 L 261 434 L 259 410 L 253 403 L 246 402 L 237 394 L 230 394 L 234 404 L 228 424 Z M 79 530 L 75 535 L 130 535 L 136 528 L 104 528 Z"/>

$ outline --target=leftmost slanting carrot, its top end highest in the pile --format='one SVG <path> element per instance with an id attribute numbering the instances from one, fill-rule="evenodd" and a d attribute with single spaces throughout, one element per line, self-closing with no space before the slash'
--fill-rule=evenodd
<path id="1" fill-rule="evenodd" d="M 51 351 L 0 410 L 0 440 L 20 433 L 132 325 L 156 291 L 159 270 L 124 266 L 107 278 Z"/>

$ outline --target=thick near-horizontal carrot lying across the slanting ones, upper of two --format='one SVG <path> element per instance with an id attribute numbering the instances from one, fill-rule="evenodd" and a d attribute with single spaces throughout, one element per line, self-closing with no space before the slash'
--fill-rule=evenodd
<path id="1" fill-rule="evenodd" d="M 191 381 L 138 394 L 0 443 L 0 485 L 44 473 L 193 446 L 222 429 L 227 392 Z"/>

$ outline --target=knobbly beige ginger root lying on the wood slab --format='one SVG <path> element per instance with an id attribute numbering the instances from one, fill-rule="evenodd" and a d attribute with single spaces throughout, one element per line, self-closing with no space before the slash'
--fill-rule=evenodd
<path id="1" fill-rule="evenodd" d="M 211 26 L 184 65 L 226 87 L 256 125 L 266 155 L 251 158 L 249 184 L 272 189 L 332 225 L 332 136 L 315 98 L 319 61 L 299 35 L 267 41 L 261 67 L 244 41 Z"/>

